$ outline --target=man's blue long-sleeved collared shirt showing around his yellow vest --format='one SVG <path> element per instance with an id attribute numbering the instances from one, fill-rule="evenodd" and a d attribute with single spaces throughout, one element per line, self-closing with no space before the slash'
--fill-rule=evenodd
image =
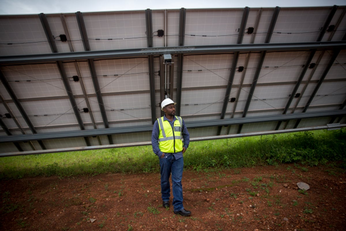
<path id="1" fill-rule="evenodd" d="M 166 115 L 163 116 L 163 121 L 168 121 L 170 122 L 172 128 L 173 128 L 173 124 L 174 121 L 176 120 L 175 116 L 173 118 L 173 121 L 170 121 L 169 119 L 166 118 Z M 158 126 L 158 122 L 157 119 L 154 123 L 153 126 L 153 132 L 152 132 L 152 146 L 153 146 L 153 151 L 154 153 L 158 156 L 161 157 L 162 156 L 162 151 L 160 150 L 160 148 L 158 147 L 158 135 L 160 134 L 160 127 Z M 188 131 L 188 128 L 186 128 L 184 120 L 182 119 L 182 136 L 183 136 L 183 147 L 185 147 L 186 149 L 189 147 L 189 143 L 190 143 L 190 134 Z M 176 152 L 176 153 L 165 153 L 165 155 L 169 155 L 169 154 L 173 154 L 175 159 L 179 159 L 181 157 L 183 157 L 183 152 Z"/>

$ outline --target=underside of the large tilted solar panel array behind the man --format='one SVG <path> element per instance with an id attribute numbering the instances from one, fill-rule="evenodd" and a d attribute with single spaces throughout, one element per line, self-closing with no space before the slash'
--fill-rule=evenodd
<path id="1" fill-rule="evenodd" d="M 345 125 L 346 7 L 0 16 L 0 156 Z"/>

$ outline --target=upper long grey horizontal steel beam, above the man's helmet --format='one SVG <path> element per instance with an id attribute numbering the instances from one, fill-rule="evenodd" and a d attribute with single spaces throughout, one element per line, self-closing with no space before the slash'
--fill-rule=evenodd
<path id="1" fill-rule="evenodd" d="M 270 44 L 234 44 L 234 45 L 208 45 L 208 46 L 176 46 L 134 48 L 126 50 L 106 51 L 79 51 L 52 54 L 31 54 L 0 56 L 0 64 L 18 63 L 48 63 L 55 61 L 71 61 L 86 59 L 115 59 L 122 57 L 144 57 L 161 54 L 215 54 L 234 52 L 261 52 L 261 51 L 309 51 L 345 49 L 346 42 L 309 42 L 309 43 L 270 43 Z"/>

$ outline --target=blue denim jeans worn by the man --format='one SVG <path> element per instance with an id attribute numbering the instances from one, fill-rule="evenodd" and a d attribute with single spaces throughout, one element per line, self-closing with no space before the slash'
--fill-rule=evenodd
<path id="1" fill-rule="evenodd" d="M 162 201 L 170 200 L 170 175 L 172 173 L 173 207 L 174 211 L 180 211 L 184 208 L 183 187 L 181 184 L 184 160 L 183 157 L 176 160 L 173 154 L 166 154 L 167 156 L 160 158 Z"/>

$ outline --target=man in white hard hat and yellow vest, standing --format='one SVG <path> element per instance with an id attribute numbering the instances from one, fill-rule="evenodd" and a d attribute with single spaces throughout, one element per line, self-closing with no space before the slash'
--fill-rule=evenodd
<path id="1" fill-rule="evenodd" d="M 190 134 L 185 127 L 184 120 L 175 116 L 173 100 L 167 98 L 161 103 L 161 110 L 165 115 L 158 118 L 153 127 L 152 145 L 154 153 L 160 160 L 161 196 L 162 205 L 169 208 L 170 203 L 170 175 L 172 174 L 173 207 L 174 213 L 190 216 L 191 212 L 183 206 L 183 153 L 189 146 Z"/>

